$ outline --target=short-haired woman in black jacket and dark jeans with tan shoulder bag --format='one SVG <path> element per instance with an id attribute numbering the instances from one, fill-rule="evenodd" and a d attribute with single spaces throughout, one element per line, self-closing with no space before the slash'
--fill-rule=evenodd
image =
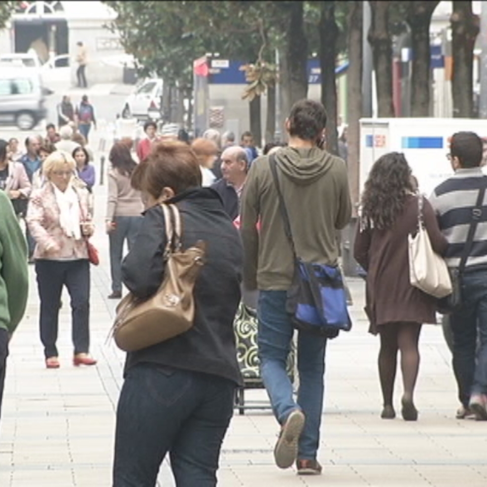
<path id="1" fill-rule="evenodd" d="M 178 206 L 183 248 L 206 243 L 194 288 L 195 319 L 188 332 L 127 354 L 117 410 L 114 487 L 154 487 L 169 453 L 177 485 L 217 483 L 220 447 L 241 378 L 233 319 L 240 300 L 242 249 L 217 193 L 201 188 L 191 148 L 159 143 L 137 166 L 132 185 L 147 210 L 122 266 L 125 286 L 148 298 L 160 286 L 166 246 L 162 201 Z"/>

